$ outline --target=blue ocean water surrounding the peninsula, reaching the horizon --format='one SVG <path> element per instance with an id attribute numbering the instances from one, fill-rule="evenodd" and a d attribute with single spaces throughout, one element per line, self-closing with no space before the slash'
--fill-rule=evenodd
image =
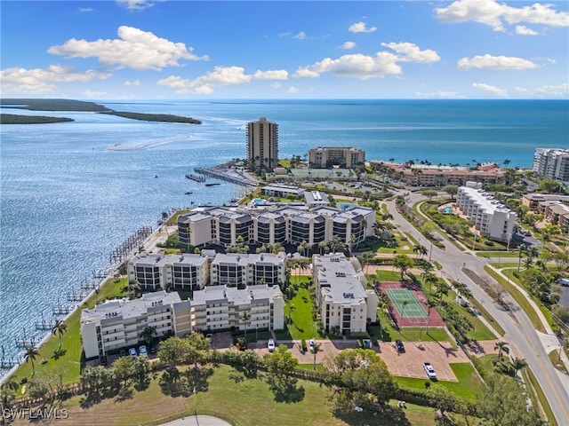
<path id="1" fill-rule="evenodd" d="M 236 198 L 240 187 L 184 177 L 246 153 L 246 122 L 279 124 L 279 156 L 356 146 L 367 160 L 498 162 L 531 167 L 535 147 L 569 147 L 565 100 L 100 101 L 118 111 L 183 114 L 201 125 L 107 114 L 44 113 L 75 122 L 3 126 L 0 139 L 0 343 L 36 334 L 92 272 L 161 212 Z M 4 111 L 3 111 L 4 112 Z M 13 110 L 9 111 L 13 114 Z M 185 195 L 191 191 L 192 195 Z M 1 372 L 0 372 L 1 375 Z"/>

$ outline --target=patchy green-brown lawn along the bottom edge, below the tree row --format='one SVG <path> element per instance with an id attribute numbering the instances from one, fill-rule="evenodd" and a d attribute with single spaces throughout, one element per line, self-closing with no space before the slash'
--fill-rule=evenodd
<path id="1" fill-rule="evenodd" d="M 134 398 L 118 401 L 109 398 L 89 408 L 79 407 L 81 397 L 63 403 L 69 409 L 68 421 L 58 424 L 105 424 L 135 426 L 159 424 L 197 414 L 220 417 L 236 426 L 246 425 L 393 425 L 435 426 L 435 410 L 407 403 L 403 418 L 396 421 L 372 412 L 350 413 L 342 418 L 332 414 L 331 390 L 309 381 L 299 380 L 296 402 L 276 402 L 268 384 L 261 378 L 236 383 L 230 378 L 231 369 L 221 366 L 209 379 L 208 390 L 188 398 L 164 396 L 158 379 L 147 390 L 135 391 Z M 162 374 L 158 374 L 160 377 Z M 254 401 L 254 402 L 253 402 Z M 393 402 L 392 404 L 395 404 Z M 72 422 L 73 421 L 73 422 Z"/>

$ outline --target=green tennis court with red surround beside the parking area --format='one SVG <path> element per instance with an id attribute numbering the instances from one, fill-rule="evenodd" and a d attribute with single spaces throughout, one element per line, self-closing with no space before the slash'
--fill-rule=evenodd
<path id="1" fill-rule="evenodd" d="M 379 287 L 389 296 L 389 313 L 398 327 L 445 327 L 445 321 L 427 307 L 427 297 L 413 282 L 382 281 Z"/>

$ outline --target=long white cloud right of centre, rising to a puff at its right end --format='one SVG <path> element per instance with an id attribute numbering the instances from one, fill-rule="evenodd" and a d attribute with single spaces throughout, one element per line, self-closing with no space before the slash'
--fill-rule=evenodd
<path id="1" fill-rule="evenodd" d="M 413 43 L 383 43 L 398 54 L 389 51 L 378 51 L 375 56 L 361 53 L 343 55 L 338 59 L 325 58 L 314 65 L 299 67 L 295 77 L 317 77 L 330 73 L 339 77 L 352 77 L 366 80 L 384 75 L 400 75 L 403 73 L 397 62 L 429 63 L 439 60 L 436 51 L 421 51 Z"/>

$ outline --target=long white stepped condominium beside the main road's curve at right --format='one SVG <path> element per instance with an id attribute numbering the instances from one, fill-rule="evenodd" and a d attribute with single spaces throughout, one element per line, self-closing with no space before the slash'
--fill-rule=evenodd
<path id="1" fill-rule="evenodd" d="M 477 230 L 490 240 L 507 242 L 514 234 L 517 215 L 482 189 L 482 184 L 460 186 L 456 205 Z"/>

